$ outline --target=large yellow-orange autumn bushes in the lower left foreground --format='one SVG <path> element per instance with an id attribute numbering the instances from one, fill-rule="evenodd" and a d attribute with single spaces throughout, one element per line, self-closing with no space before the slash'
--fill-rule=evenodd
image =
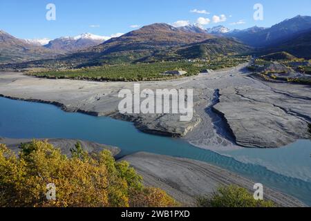
<path id="1" fill-rule="evenodd" d="M 129 163 L 115 162 L 109 151 L 89 155 L 77 144 L 71 153 L 34 140 L 16 155 L 0 144 L 0 206 L 177 205 L 164 191 L 145 188 Z M 55 184 L 56 200 L 46 199 L 47 184 Z"/>

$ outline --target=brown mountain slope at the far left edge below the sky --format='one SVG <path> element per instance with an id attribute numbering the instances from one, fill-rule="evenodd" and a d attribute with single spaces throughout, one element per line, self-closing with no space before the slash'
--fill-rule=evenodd
<path id="1" fill-rule="evenodd" d="M 53 50 L 28 44 L 26 41 L 0 30 L 0 64 L 46 59 L 57 54 Z"/>

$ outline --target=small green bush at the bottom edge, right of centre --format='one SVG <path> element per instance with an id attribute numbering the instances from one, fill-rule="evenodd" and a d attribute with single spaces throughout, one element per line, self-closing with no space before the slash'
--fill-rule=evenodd
<path id="1" fill-rule="evenodd" d="M 211 196 L 198 199 L 201 207 L 274 207 L 274 203 L 255 200 L 253 195 L 239 186 L 222 186 Z"/>

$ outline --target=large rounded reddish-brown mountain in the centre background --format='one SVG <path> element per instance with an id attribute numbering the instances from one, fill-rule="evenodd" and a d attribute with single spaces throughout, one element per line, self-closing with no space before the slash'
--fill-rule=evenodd
<path id="1" fill-rule="evenodd" d="M 217 37 L 196 28 L 198 27 L 175 28 L 167 23 L 154 23 L 70 55 L 28 62 L 25 65 L 46 67 L 57 64 L 62 67 L 81 68 L 126 62 L 207 58 L 249 51 L 248 46 L 236 39 Z M 73 38 L 62 39 L 62 43 L 69 41 L 70 44 L 72 40 Z"/>

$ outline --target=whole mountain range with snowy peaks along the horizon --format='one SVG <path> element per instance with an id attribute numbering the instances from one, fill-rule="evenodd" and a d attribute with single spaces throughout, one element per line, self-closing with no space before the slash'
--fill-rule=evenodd
<path id="1" fill-rule="evenodd" d="M 1 31 L 0 63 L 39 59 L 36 64 L 53 64 L 58 55 L 57 62 L 65 66 L 98 66 L 279 51 L 309 58 L 310 32 L 311 17 L 300 15 L 271 28 L 254 26 L 230 31 L 224 26 L 176 28 L 167 23 L 154 23 L 111 39 L 86 33 L 54 39 L 48 44 L 44 44 L 44 40 L 17 39 Z"/>

